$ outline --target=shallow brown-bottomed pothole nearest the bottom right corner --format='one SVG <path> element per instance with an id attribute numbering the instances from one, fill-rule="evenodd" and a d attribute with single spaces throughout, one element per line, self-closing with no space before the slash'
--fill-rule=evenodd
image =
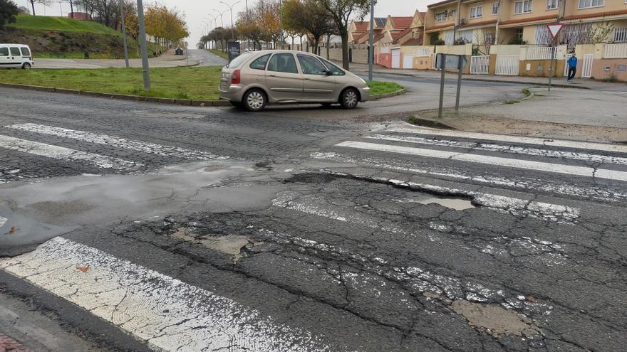
<path id="1" fill-rule="evenodd" d="M 451 304 L 451 309 L 464 316 L 470 326 L 486 329 L 493 336 L 539 334 L 537 326 L 534 326 L 529 318 L 515 311 L 508 311 L 502 306 L 459 300 Z"/>

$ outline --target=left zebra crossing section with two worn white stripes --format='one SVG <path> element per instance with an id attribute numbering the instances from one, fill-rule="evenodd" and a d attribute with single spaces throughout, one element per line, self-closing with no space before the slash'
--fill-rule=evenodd
<path id="1" fill-rule="evenodd" d="M 197 149 L 42 124 L 12 124 L 1 129 L 0 183 L 77 174 L 128 174 L 185 161 L 229 159 Z M 9 155 L 11 151 L 16 153 Z"/>

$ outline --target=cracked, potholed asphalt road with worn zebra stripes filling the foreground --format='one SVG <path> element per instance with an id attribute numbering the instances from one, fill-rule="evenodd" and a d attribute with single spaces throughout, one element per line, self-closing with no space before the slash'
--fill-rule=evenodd
<path id="1" fill-rule="evenodd" d="M 0 286 L 89 346 L 627 346 L 626 146 L 0 91 Z"/>

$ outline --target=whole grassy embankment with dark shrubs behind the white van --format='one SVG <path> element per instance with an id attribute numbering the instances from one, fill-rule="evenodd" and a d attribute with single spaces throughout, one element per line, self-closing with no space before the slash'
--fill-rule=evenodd
<path id="1" fill-rule="evenodd" d="M 127 38 L 130 58 L 138 58 L 138 43 Z M 0 42 L 27 44 L 35 58 L 84 58 L 86 50 L 90 58 L 123 58 L 122 33 L 73 18 L 22 14 L 0 31 Z M 149 43 L 149 55 L 157 51 L 157 46 Z"/>

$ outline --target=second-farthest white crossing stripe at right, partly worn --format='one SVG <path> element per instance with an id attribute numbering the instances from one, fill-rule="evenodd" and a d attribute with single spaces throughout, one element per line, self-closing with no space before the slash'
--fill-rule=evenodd
<path id="1" fill-rule="evenodd" d="M 395 136 L 388 134 L 373 134 L 364 137 L 368 139 L 378 139 L 390 142 L 407 142 L 414 144 L 425 144 L 433 146 L 447 146 L 450 148 L 463 148 L 480 151 L 500 151 L 509 154 L 527 154 L 532 156 L 544 156 L 549 158 L 563 158 L 571 160 L 591 161 L 594 163 L 627 165 L 627 158 L 618 156 L 605 156 L 598 154 L 576 153 L 574 151 L 555 151 L 548 149 L 527 148 L 522 146 L 502 146 L 499 144 L 477 143 L 477 142 L 458 142 L 447 139 L 430 139 L 423 137 L 407 137 Z"/>

